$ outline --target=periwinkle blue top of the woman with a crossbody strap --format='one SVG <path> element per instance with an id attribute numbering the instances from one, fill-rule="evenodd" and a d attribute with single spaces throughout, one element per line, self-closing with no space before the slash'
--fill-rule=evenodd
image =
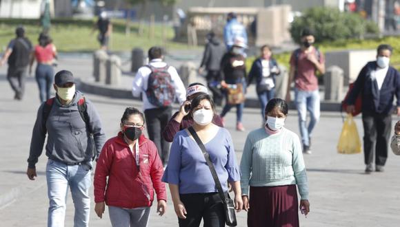
<path id="1" fill-rule="evenodd" d="M 240 180 L 239 166 L 229 131 L 220 127 L 217 135 L 204 146 L 210 154 L 223 191 L 228 191 L 228 181 Z M 179 131 L 174 137 L 162 181 L 179 185 L 180 194 L 217 192 L 203 153 L 186 130 Z"/>

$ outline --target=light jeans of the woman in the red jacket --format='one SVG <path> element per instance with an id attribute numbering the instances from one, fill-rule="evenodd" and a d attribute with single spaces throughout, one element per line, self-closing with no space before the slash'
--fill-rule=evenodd
<path id="1" fill-rule="evenodd" d="M 150 206 L 126 209 L 108 206 L 112 227 L 146 227 L 150 216 Z"/>

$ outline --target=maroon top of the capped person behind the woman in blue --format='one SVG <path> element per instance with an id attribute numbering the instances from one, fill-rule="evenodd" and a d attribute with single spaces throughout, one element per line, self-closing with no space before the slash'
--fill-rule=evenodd
<path id="1" fill-rule="evenodd" d="M 179 111 L 177 111 L 170 121 L 168 122 L 166 128 L 163 131 L 163 138 L 167 142 L 172 142 L 174 140 L 175 134 L 182 129 L 187 129 L 189 126 L 193 125 L 193 118 L 190 114 L 183 117 L 181 123 L 177 122 L 174 118 L 178 115 Z M 212 118 L 212 122 L 219 127 L 223 127 L 222 120 L 218 114 L 214 114 L 214 118 Z"/>

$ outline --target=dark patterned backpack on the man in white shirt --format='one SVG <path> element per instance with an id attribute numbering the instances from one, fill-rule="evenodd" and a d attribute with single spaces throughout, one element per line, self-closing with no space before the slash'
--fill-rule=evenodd
<path id="1" fill-rule="evenodd" d="M 169 66 L 153 67 L 147 65 L 152 71 L 148 76 L 146 96 L 148 101 L 156 107 L 168 107 L 175 100 L 175 88 L 168 72 Z"/>

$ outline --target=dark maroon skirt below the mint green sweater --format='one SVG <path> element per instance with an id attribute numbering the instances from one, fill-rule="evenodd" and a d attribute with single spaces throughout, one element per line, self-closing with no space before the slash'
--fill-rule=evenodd
<path id="1" fill-rule="evenodd" d="M 299 227 L 296 185 L 250 186 L 249 227 Z"/>

